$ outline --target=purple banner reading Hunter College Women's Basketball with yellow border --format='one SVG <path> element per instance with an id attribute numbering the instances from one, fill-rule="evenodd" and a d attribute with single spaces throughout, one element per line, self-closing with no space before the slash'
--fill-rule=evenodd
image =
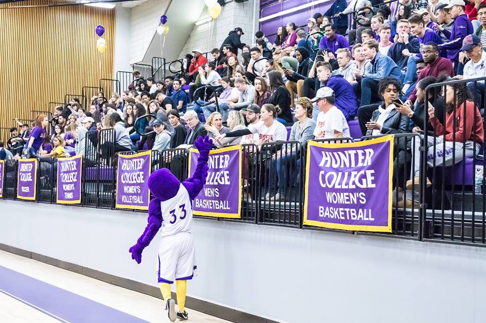
<path id="1" fill-rule="evenodd" d="M 349 144 L 310 141 L 304 224 L 391 232 L 393 136 Z"/>

